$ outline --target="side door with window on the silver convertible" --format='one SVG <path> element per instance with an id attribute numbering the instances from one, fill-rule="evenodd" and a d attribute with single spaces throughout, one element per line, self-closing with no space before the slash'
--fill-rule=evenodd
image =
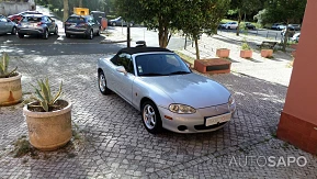
<path id="1" fill-rule="evenodd" d="M 118 65 L 123 66 L 126 72 L 120 72 L 120 82 L 117 83 L 117 91 L 122 98 L 124 98 L 127 102 L 132 103 L 133 97 L 133 82 L 135 80 L 135 71 L 133 58 L 129 54 L 121 54 L 118 55 Z"/>

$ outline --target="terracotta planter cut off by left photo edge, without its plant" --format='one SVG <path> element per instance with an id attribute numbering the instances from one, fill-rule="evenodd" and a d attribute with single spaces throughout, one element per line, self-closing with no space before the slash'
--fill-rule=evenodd
<path id="1" fill-rule="evenodd" d="M 21 77 L 22 75 L 19 74 L 10 78 L 0 78 L 0 107 L 21 102 Z"/>

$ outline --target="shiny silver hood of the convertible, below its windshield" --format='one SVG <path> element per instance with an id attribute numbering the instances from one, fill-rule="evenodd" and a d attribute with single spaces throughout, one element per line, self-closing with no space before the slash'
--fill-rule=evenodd
<path id="1" fill-rule="evenodd" d="M 224 86 L 196 74 L 141 77 L 141 80 L 149 88 L 162 90 L 174 103 L 195 109 L 227 103 L 230 97 Z"/>

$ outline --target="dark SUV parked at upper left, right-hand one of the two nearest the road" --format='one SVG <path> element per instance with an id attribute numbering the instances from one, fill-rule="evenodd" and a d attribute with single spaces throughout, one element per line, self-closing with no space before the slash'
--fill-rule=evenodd
<path id="1" fill-rule="evenodd" d="M 101 32 L 100 23 L 91 15 L 70 15 L 65 22 L 66 37 L 70 35 L 84 35 L 92 40 L 94 35 L 99 36 Z"/>

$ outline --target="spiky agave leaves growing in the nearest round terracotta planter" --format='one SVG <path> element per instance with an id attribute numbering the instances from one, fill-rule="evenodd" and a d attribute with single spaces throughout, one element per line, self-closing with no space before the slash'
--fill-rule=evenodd
<path id="1" fill-rule="evenodd" d="M 32 105 L 32 107 L 42 107 L 44 111 L 48 112 L 49 109 L 56 107 L 56 101 L 60 98 L 61 96 L 61 86 L 63 81 L 60 82 L 59 90 L 58 92 L 53 96 L 50 91 L 50 87 L 48 83 L 48 79 L 46 78 L 44 80 L 37 80 L 38 88 L 35 88 L 35 96 L 31 97 L 33 100 L 38 102 L 39 105 Z"/>

